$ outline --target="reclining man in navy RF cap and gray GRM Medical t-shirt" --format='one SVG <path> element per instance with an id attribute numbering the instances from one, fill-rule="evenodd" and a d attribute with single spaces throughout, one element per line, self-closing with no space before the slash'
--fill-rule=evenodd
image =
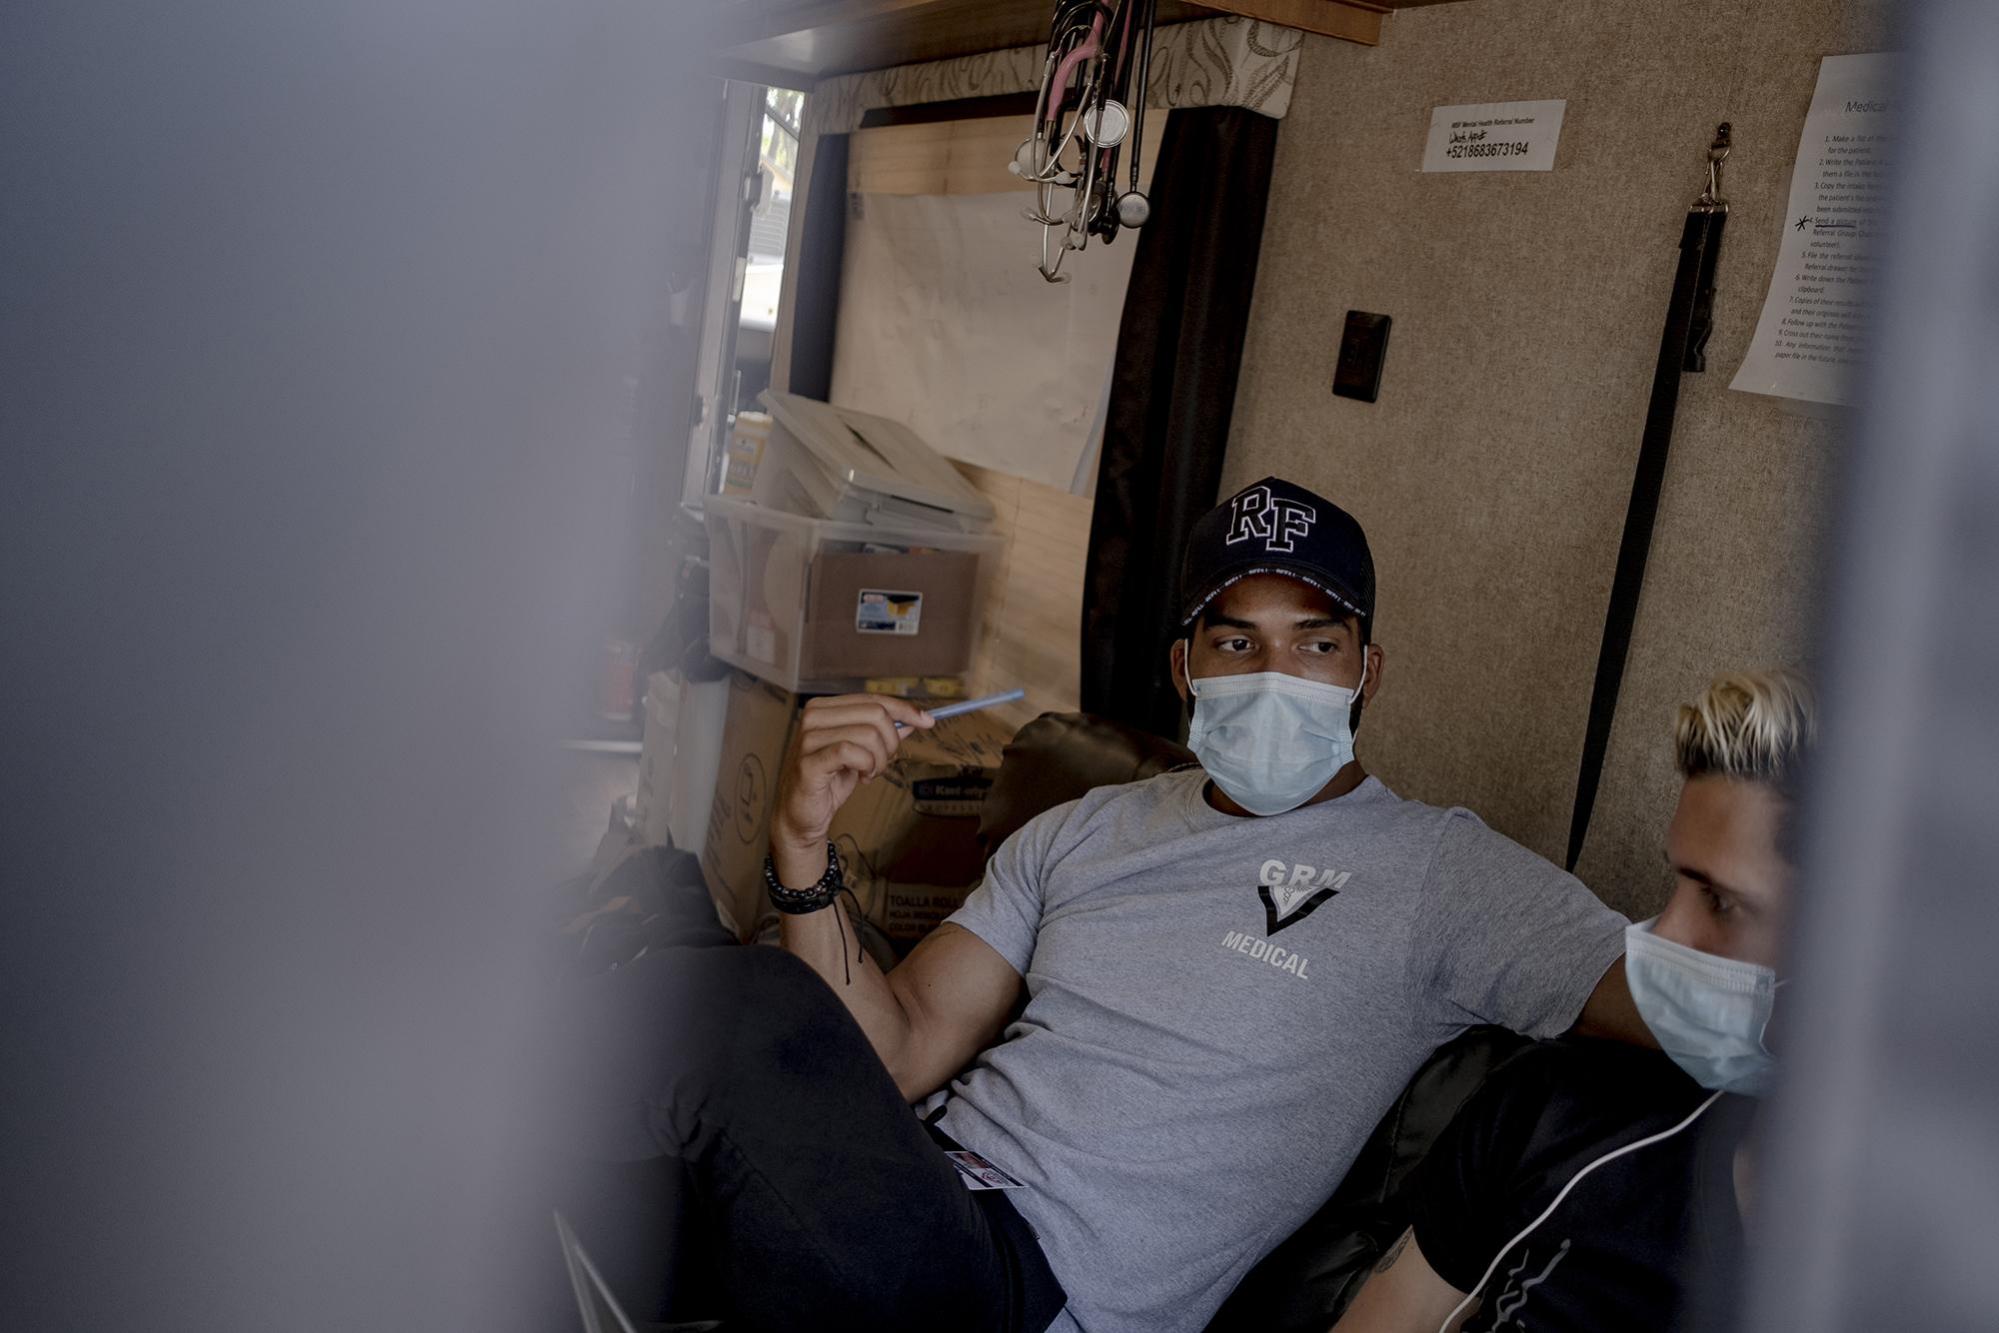
<path id="1" fill-rule="evenodd" d="M 1453 1033 L 1647 1039 L 1623 917 L 1353 757 L 1383 664 L 1353 518 L 1263 480 L 1195 526 L 1181 590 L 1201 767 L 1033 819 L 888 973 L 828 911 L 826 829 L 932 719 L 806 707 L 768 875 L 840 1023 L 766 977 L 716 1001 L 754 1027 L 666 1097 L 712 1229 L 762 1247 L 732 1279 L 740 1323 L 1195 1333 Z M 962 1149 L 978 1195 L 946 1165 Z"/>

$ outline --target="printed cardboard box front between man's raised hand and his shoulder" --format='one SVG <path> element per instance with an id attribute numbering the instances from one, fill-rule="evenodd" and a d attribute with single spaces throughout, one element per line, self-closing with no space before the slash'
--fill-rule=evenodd
<path id="1" fill-rule="evenodd" d="M 1013 727 L 992 713 L 948 717 L 904 739 L 890 771 L 834 815 L 848 887 L 898 951 L 958 911 L 986 869 L 980 811 Z"/>

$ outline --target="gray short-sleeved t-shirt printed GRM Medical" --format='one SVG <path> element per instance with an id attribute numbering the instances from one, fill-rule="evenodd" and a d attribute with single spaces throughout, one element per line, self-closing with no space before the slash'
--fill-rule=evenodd
<path id="1" fill-rule="evenodd" d="M 928 1105 L 1027 1183 L 1055 1329 L 1201 1329 L 1475 1023 L 1567 1029 L 1625 919 L 1465 809 L 1375 779 L 1267 819 L 1197 769 L 1101 787 L 994 853 L 952 921 L 1027 1007 Z"/>

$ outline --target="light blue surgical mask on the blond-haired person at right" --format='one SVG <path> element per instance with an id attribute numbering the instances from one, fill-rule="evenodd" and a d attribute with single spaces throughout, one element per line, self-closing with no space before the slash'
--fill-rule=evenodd
<path id="1" fill-rule="evenodd" d="M 1659 1049 L 1701 1087 L 1761 1097 L 1777 1061 L 1763 1045 L 1777 973 L 1625 927 L 1625 981 Z"/>

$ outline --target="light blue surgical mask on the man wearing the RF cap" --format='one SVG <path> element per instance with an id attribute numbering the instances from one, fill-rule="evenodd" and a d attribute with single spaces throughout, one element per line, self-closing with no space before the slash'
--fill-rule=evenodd
<path id="1" fill-rule="evenodd" d="M 1359 685 L 1253 671 L 1189 677 L 1187 689 L 1193 691 L 1187 747 L 1215 785 L 1251 813 L 1297 809 L 1353 759 Z"/>

